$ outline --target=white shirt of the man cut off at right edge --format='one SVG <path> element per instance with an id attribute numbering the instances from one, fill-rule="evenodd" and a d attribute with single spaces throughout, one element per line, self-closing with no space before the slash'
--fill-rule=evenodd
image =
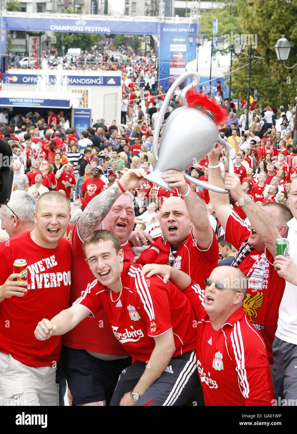
<path id="1" fill-rule="evenodd" d="M 290 257 L 297 264 L 297 220 L 293 217 L 287 222 L 290 243 Z M 297 345 L 297 286 L 286 282 L 284 295 L 278 312 L 276 337 Z"/>

